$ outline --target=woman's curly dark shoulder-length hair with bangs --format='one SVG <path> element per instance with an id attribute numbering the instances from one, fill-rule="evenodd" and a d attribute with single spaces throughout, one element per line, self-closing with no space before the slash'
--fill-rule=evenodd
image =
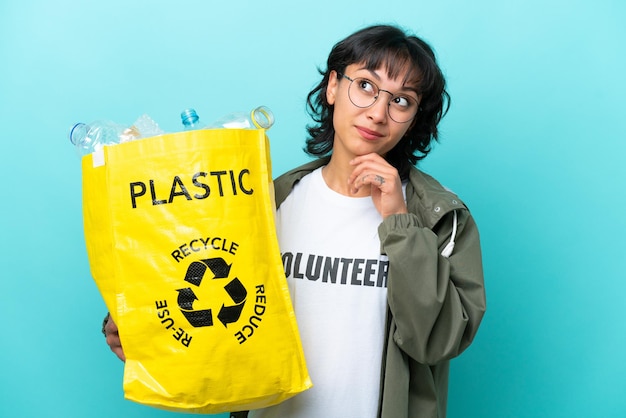
<path id="1" fill-rule="evenodd" d="M 450 96 L 433 49 L 424 40 L 396 26 L 370 26 L 335 44 L 326 70 L 319 69 L 322 81 L 307 96 L 307 111 L 315 124 L 306 128 L 309 137 L 304 151 L 315 157 L 332 153 L 334 107 L 326 101 L 330 73 L 343 74 L 348 65 L 355 63 L 363 63 L 372 71 L 384 67 L 389 78 L 397 78 L 408 69 L 403 81 L 418 86 L 419 111 L 406 135 L 385 155 L 405 179 L 410 166 L 425 158 L 431 151 L 432 141 L 438 140 L 437 125 L 450 107 Z"/>

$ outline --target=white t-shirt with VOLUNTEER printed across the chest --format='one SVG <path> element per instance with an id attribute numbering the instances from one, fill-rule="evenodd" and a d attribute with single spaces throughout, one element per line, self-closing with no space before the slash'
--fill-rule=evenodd
<path id="1" fill-rule="evenodd" d="M 305 176 L 277 212 L 278 240 L 313 388 L 254 418 L 374 418 L 384 344 L 387 267 L 370 197 Z"/>

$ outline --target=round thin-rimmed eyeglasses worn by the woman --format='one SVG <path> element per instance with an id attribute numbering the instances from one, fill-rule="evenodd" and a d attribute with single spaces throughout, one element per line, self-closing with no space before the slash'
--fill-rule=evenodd
<path id="1" fill-rule="evenodd" d="M 350 78 L 345 74 L 339 74 L 341 77 L 350 81 L 348 87 L 348 97 L 353 105 L 360 108 L 372 106 L 378 100 L 380 92 L 384 91 L 391 95 L 387 106 L 389 117 L 397 123 L 406 123 L 411 121 L 417 114 L 419 103 L 409 95 L 394 94 L 389 90 L 379 88 L 373 81 L 367 78 Z"/>

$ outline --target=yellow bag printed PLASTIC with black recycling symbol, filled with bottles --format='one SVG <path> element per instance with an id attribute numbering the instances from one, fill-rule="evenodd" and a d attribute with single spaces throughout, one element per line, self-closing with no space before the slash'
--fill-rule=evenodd
<path id="1" fill-rule="evenodd" d="M 309 388 L 274 225 L 263 130 L 180 132 L 83 158 L 92 275 L 127 399 L 219 413 Z"/>

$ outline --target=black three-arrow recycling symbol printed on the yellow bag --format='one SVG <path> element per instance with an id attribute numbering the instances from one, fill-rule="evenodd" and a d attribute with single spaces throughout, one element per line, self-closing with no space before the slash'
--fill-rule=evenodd
<path id="1" fill-rule="evenodd" d="M 187 268 L 185 281 L 199 287 L 202 280 L 205 278 L 207 269 L 213 274 L 212 280 L 227 279 L 230 268 L 231 264 L 227 264 L 223 258 L 219 257 L 194 261 Z M 237 322 L 241 316 L 248 291 L 236 277 L 224 286 L 224 290 L 226 290 L 226 293 L 228 293 L 234 304 L 229 306 L 222 304 L 222 308 L 217 314 L 217 319 L 227 327 L 228 324 Z M 198 300 L 193 288 L 185 287 L 176 289 L 176 291 L 178 292 L 178 307 L 193 327 L 210 327 L 213 325 L 213 312 L 211 309 L 197 311 L 193 309 L 194 301 Z"/>

